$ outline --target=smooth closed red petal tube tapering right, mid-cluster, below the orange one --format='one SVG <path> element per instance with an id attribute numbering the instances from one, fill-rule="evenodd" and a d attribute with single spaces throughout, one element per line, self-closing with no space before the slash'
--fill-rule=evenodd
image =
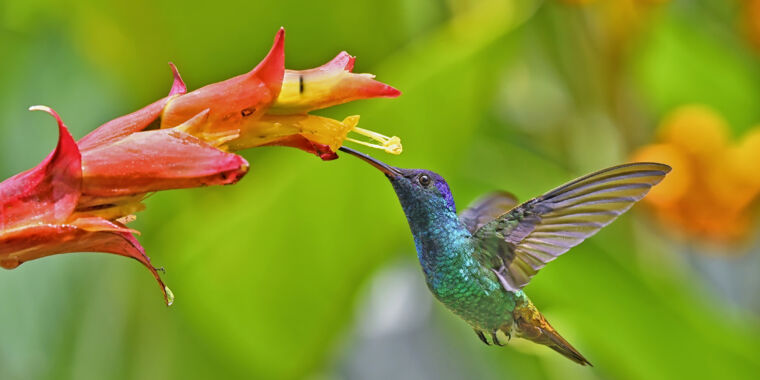
<path id="1" fill-rule="evenodd" d="M 82 154 L 82 193 L 121 197 L 158 190 L 237 182 L 242 157 L 176 129 L 133 133 Z"/>

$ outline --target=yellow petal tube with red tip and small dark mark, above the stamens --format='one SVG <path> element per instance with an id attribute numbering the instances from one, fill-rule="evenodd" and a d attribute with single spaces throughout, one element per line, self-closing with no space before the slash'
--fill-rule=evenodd
<path id="1" fill-rule="evenodd" d="M 397 89 L 374 80 L 372 74 L 354 74 L 355 58 L 341 52 L 330 62 L 309 70 L 285 70 L 282 90 L 269 114 L 299 114 L 358 99 L 395 98 Z"/>

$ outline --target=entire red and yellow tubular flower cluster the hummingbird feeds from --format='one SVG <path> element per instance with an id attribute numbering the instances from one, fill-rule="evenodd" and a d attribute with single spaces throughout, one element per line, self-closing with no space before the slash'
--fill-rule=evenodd
<path id="1" fill-rule="evenodd" d="M 0 266 L 8 269 L 54 254 L 97 251 L 140 261 L 167 303 L 173 296 L 124 224 L 151 192 L 233 184 L 248 169 L 229 153 L 257 146 L 291 146 L 323 160 L 354 141 L 398 154 L 398 137 L 308 114 L 357 99 L 396 97 L 398 90 L 370 74 L 352 73 L 341 52 L 310 70 L 285 70 L 284 30 L 250 72 L 187 92 L 174 64 L 169 95 L 109 121 L 78 143 L 58 115 L 56 149 L 36 168 L 0 183 Z M 348 137 L 355 132 L 378 144 Z"/>

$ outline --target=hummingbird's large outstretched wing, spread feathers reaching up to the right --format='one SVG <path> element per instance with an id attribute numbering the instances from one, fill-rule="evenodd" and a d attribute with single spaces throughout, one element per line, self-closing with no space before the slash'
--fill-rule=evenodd
<path id="1" fill-rule="evenodd" d="M 522 289 L 546 263 L 611 223 L 670 167 L 657 163 L 614 166 L 531 199 L 480 227 L 473 238 L 476 258 L 502 286 Z"/>

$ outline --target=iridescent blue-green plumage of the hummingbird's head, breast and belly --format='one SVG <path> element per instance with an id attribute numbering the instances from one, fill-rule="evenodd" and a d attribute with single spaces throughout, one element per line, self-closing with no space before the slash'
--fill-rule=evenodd
<path id="1" fill-rule="evenodd" d="M 407 176 L 423 172 L 431 183 L 438 184 L 428 192 L 407 180 Z M 391 178 L 391 184 L 409 221 L 430 291 L 473 326 L 492 331 L 510 323 L 514 297 L 474 258 L 472 235 L 457 217 L 446 182 L 435 173 L 421 170 L 405 171 L 405 175 Z"/>

